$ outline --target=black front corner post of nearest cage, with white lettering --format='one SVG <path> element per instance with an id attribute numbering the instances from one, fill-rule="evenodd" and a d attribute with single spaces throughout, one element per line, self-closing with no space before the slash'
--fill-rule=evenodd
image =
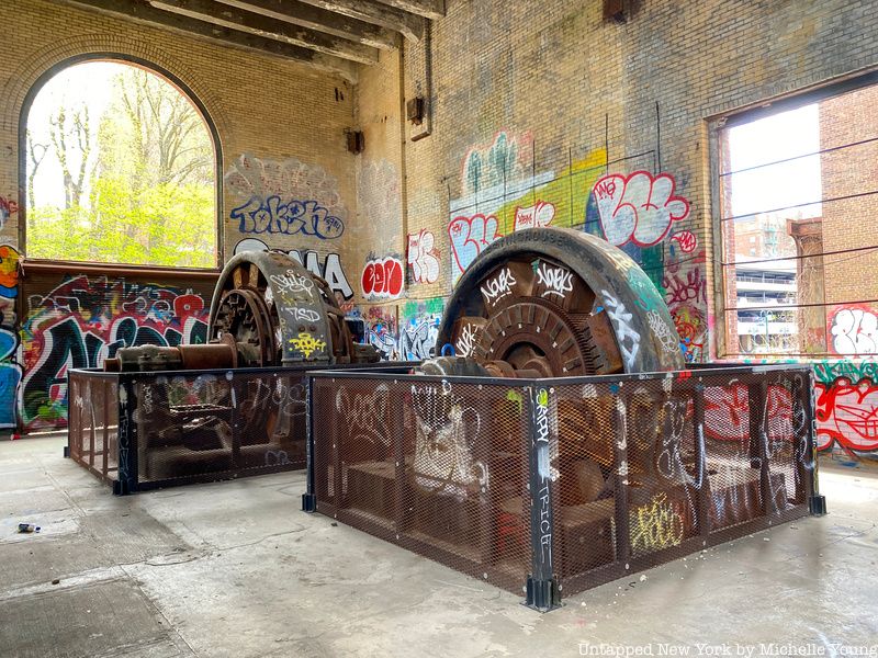
<path id="1" fill-rule="evenodd" d="M 552 572 L 552 478 L 549 463 L 551 441 L 549 395 L 547 386 L 533 384 L 525 388 L 528 400 L 530 490 L 531 572 L 526 586 L 528 608 L 548 612 L 561 604 L 561 588 Z"/>

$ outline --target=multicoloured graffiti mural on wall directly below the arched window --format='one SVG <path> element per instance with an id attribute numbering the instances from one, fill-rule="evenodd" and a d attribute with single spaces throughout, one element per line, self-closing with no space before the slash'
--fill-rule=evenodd
<path id="1" fill-rule="evenodd" d="M 201 343 L 207 336 L 201 295 L 122 279 L 68 277 L 47 295 L 32 296 L 29 307 L 21 401 L 27 429 L 66 424 L 68 368 L 100 367 L 124 347 Z"/>

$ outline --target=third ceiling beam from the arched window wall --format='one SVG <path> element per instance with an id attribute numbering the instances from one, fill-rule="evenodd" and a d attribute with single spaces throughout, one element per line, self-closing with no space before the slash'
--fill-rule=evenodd
<path id="1" fill-rule="evenodd" d="M 217 0 L 223 4 L 262 14 L 275 21 L 284 21 L 303 27 L 335 34 L 350 41 L 390 50 L 398 46 L 395 31 L 374 23 L 359 21 L 299 0 Z"/>

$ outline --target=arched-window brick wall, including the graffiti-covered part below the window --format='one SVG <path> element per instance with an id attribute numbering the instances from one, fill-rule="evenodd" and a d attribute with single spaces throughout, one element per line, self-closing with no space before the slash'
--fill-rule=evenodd
<path id="1" fill-rule="evenodd" d="M 270 247 L 317 251 L 322 262 L 336 253 L 341 268 L 347 266 L 345 232 L 338 237 L 255 232 L 246 204 L 258 206 L 272 194 L 284 202 L 313 202 L 338 216 L 348 234 L 356 234 L 356 159 L 346 149 L 344 134 L 354 123 L 356 90 L 350 82 L 296 63 L 43 0 L 0 3 L 0 24 L 11 37 L 0 57 L 0 198 L 7 211 L 14 209 L 9 202 L 24 206 L 19 135 L 25 95 L 41 77 L 70 58 L 112 53 L 151 63 L 177 77 L 215 124 L 221 178 L 225 178 L 217 220 L 226 258 L 240 240 L 254 238 Z M 191 338 L 198 334 L 195 329 L 203 329 L 213 287 L 203 279 L 123 280 L 108 271 L 104 280 L 100 271 L 88 276 L 69 272 L 56 274 L 55 282 L 41 277 L 37 290 L 25 266 L 25 281 L 19 281 L 15 263 L 25 256 L 20 254 L 24 249 L 19 243 L 22 215 L 23 207 L 5 212 L 0 227 L 0 427 L 64 424 L 68 358 L 76 366 L 95 365 L 95 345 L 103 348 L 121 338 L 123 329 L 133 328 L 132 340 L 139 331 L 171 343 L 178 336 Z M 359 280 L 359 273 L 349 276 L 351 285 Z M 89 287 L 93 293 L 89 298 L 99 299 L 101 308 L 70 313 L 55 304 L 53 291 L 60 295 L 70 281 L 79 282 L 75 287 Z M 69 302 L 69 294 L 64 294 Z M 139 309 L 140 304 L 126 303 L 139 297 L 160 300 L 172 315 L 150 316 L 148 304 L 143 313 L 122 314 L 125 317 L 110 310 Z M 95 324 L 95 317 L 103 319 Z M 58 326 L 65 320 L 69 330 Z M 87 334 L 92 336 L 88 345 Z M 57 363 L 52 372 L 49 363 Z M 29 397 L 24 404 L 20 400 L 18 418 L 16 389 L 19 396 L 24 392 Z"/>

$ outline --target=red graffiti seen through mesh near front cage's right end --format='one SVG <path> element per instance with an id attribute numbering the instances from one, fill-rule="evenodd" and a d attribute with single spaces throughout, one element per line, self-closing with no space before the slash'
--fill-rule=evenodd
<path id="1" fill-rule="evenodd" d="M 768 439 L 792 440 L 792 395 L 784 386 L 768 386 L 763 400 Z M 710 386 L 705 390 L 705 434 L 718 441 L 750 440 L 750 395 L 746 384 Z"/>

